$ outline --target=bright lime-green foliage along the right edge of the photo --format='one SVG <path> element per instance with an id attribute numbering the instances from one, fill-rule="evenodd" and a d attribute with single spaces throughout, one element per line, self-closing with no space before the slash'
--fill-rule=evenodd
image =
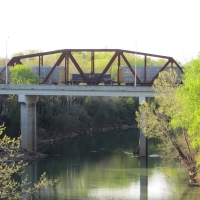
<path id="1" fill-rule="evenodd" d="M 192 61 L 183 74 L 183 86 L 176 92 L 180 97 L 183 109 L 173 119 L 174 127 L 183 126 L 192 138 L 194 148 L 200 147 L 200 58 Z"/>

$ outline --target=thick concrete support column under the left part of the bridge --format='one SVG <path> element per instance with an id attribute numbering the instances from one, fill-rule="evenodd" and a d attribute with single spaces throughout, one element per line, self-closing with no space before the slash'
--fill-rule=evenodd
<path id="1" fill-rule="evenodd" d="M 36 103 L 38 96 L 19 95 L 21 107 L 21 148 L 37 150 Z"/>

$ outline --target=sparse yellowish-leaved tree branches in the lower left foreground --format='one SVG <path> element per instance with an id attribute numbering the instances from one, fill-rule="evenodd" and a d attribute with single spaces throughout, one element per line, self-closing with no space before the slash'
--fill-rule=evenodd
<path id="1" fill-rule="evenodd" d="M 27 163 L 22 160 L 23 155 L 19 151 L 21 138 L 11 139 L 7 135 L 3 136 L 4 130 L 4 125 L 0 126 L 0 199 L 24 199 L 32 195 L 37 196 L 43 187 L 54 186 L 57 180 L 47 181 L 45 173 L 32 188 L 29 187 L 27 177 L 21 183 L 14 180 L 13 175 L 20 176 L 23 173 L 22 168 Z"/>

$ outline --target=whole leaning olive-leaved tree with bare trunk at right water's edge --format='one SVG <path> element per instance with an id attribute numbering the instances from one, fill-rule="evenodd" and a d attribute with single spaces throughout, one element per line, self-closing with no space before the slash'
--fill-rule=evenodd
<path id="1" fill-rule="evenodd" d="M 178 123 L 183 116 L 185 104 L 177 91 L 181 87 L 180 80 L 174 70 L 164 71 L 154 81 L 153 91 L 155 98 L 144 102 L 136 113 L 139 128 L 148 137 L 161 140 L 160 147 L 164 152 L 163 158 L 174 157 L 181 161 L 188 171 L 191 184 L 199 185 L 198 165 L 195 155 L 197 149 L 192 148 L 192 137 L 183 123 Z M 184 87 L 184 86 L 183 86 Z"/>

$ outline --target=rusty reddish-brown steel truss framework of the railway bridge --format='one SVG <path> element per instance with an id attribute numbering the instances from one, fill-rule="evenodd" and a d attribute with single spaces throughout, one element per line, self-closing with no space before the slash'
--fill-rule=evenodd
<path id="1" fill-rule="evenodd" d="M 152 85 L 153 81 L 158 76 L 158 74 L 157 74 L 150 82 L 148 82 L 148 83 L 146 82 L 146 75 L 147 75 L 146 68 L 147 68 L 147 58 L 148 57 L 161 58 L 161 59 L 166 60 L 166 63 L 164 64 L 164 66 L 161 68 L 160 71 L 163 71 L 168 65 L 171 64 L 172 67 L 173 67 L 173 65 L 177 66 L 182 72 L 182 68 L 174 60 L 173 57 L 156 55 L 156 54 L 149 54 L 149 53 L 142 53 L 142 52 L 136 52 L 136 51 L 129 51 L 129 50 L 121 50 L 121 49 L 63 49 L 63 50 L 56 50 L 56 51 L 49 51 L 49 52 L 41 52 L 41 53 L 34 53 L 34 54 L 29 54 L 29 55 L 15 56 L 8 62 L 7 65 L 14 67 L 16 64 L 23 64 L 22 60 L 25 59 L 25 58 L 37 57 L 38 58 L 39 75 L 40 75 L 40 69 L 43 66 L 43 56 L 60 53 L 61 54 L 60 57 L 56 60 L 54 66 L 52 66 L 52 69 L 50 70 L 49 74 L 47 74 L 46 78 L 43 80 L 43 83 L 45 84 L 47 82 L 48 78 L 51 76 L 51 74 L 54 71 L 54 69 L 56 68 L 56 66 L 59 66 L 64 61 L 64 66 L 65 66 L 65 83 L 64 84 L 67 84 L 68 81 L 69 81 L 68 75 L 69 75 L 69 60 L 70 60 L 74 64 L 74 66 L 76 67 L 76 69 L 78 70 L 80 75 L 82 76 L 84 82 L 87 85 L 89 85 L 90 83 L 88 82 L 88 80 L 84 76 L 84 72 L 82 70 L 82 67 L 78 64 L 77 60 L 73 56 L 73 52 L 90 52 L 91 53 L 91 76 L 94 75 L 94 73 L 95 73 L 95 53 L 96 52 L 113 52 L 114 55 L 109 60 L 108 64 L 105 66 L 104 70 L 101 72 L 100 76 L 98 77 L 98 79 L 94 83 L 94 85 L 98 85 L 100 83 L 101 78 L 103 77 L 104 74 L 106 74 L 106 72 L 109 70 L 109 68 L 112 66 L 113 62 L 116 59 L 117 59 L 117 63 L 118 63 L 117 64 L 118 65 L 118 74 L 117 74 L 118 80 L 116 81 L 116 83 L 118 85 L 120 85 L 120 83 L 119 83 L 119 67 L 121 65 L 121 59 L 123 59 L 124 62 L 126 63 L 126 65 L 130 68 L 131 73 L 133 75 L 135 75 L 135 71 L 131 67 L 133 65 L 130 64 L 125 53 L 144 56 L 144 80 L 141 81 L 140 78 L 136 75 L 137 83 L 139 85 L 149 85 L 150 86 L 150 85 Z M 4 70 L 5 70 L 5 68 L 2 70 L 2 72 Z"/>

